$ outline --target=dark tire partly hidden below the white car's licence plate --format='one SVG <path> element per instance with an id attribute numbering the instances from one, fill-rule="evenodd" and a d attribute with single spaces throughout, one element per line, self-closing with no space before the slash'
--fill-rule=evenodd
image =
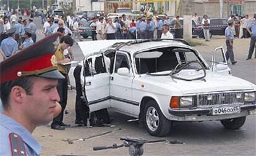
<path id="1" fill-rule="evenodd" d="M 239 117 L 239 118 L 231 118 L 226 120 L 221 120 L 221 124 L 226 129 L 239 129 L 245 123 L 246 117 Z"/>

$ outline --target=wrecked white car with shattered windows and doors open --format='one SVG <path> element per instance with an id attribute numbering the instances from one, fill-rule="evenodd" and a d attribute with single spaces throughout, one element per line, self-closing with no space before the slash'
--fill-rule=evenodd
<path id="1" fill-rule="evenodd" d="M 182 40 L 79 42 L 81 83 L 90 112 L 112 109 L 164 136 L 172 121 L 220 120 L 238 129 L 255 113 L 256 86 L 231 75 L 223 47 L 212 64 Z M 220 60 L 219 60 L 220 59 Z M 74 68 L 70 68 L 75 87 Z"/>

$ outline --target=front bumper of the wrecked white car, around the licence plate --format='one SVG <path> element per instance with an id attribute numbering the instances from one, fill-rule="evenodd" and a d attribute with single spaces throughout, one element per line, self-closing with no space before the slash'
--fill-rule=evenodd
<path id="1" fill-rule="evenodd" d="M 204 121 L 204 120 L 223 120 L 227 118 L 242 117 L 255 114 L 256 104 L 241 105 L 241 112 L 226 115 L 212 115 L 211 108 L 208 109 L 169 109 L 171 120 L 177 121 Z"/>

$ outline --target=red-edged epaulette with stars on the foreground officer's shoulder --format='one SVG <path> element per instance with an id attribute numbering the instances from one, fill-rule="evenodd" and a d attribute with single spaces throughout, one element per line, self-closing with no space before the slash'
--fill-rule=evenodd
<path id="1" fill-rule="evenodd" d="M 15 133 L 9 133 L 12 156 L 27 156 L 23 139 Z"/>

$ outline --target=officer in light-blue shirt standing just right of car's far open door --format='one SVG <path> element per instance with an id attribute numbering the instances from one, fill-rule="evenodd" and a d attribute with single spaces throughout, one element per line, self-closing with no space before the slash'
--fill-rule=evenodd
<path id="1" fill-rule="evenodd" d="M 228 27 L 225 30 L 225 38 L 226 38 L 226 46 L 227 46 L 227 52 L 226 52 L 226 59 L 230 58 L 231 63 L 234 65 L 236 64 L 236 60 L 234 60 L 234 52 L 233 52 L 233 41 L 234 41 L 234 33 L 232 30 L 234 24 L 234 20 L 228 20 Z"/>

